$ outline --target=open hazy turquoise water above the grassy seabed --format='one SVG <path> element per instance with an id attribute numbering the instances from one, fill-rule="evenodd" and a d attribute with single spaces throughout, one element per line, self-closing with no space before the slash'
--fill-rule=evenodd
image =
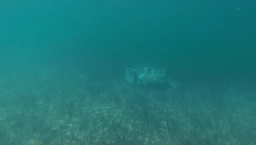
<path id="1" fill-rule="evenodd" d="M 2 1 L 1 55 L 240 75 L 255 70 L 255 13 L 255 1 Z"/>

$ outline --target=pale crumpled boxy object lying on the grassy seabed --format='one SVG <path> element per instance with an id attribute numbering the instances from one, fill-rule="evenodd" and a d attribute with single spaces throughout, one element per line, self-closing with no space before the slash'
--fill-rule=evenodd
<path id="1" fill-rule="evenodd" d="M 132 85 L 145 87 L 160 87 L 166 85 L 165 70 L 149 69 L 127 69 L 125 80 Z"/>

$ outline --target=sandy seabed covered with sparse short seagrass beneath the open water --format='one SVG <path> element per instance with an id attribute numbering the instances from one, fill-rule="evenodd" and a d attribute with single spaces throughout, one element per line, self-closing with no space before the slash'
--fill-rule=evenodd
<path id="1" fill-rule="evenodd" d="M 1 76 L 0 145 L 255 145 L 244 96 L 255 92 L 151 91 L 59 70 Z"/>

